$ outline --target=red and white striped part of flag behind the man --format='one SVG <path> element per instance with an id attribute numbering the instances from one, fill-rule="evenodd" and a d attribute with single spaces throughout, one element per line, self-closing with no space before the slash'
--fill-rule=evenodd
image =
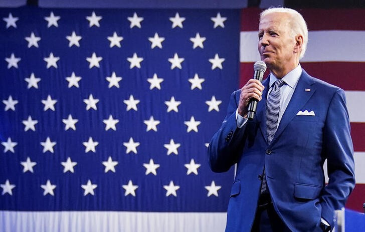
<path id="1" fill-rule="evenodd" d="M 257 8 L 241 12 L 240 86 L 252 76 L 257 52 Z M 354 146 L 356 186 L 346 207 L 363 212 L 365 202 L 365 26 L 363 9 L 298 10 L 307 22 L 309 42 L 301 66 L 309 75 L 345 90 Z M 267 72 L 268 74 L 268 72 Z M 266 74 L 266 76 L 267 76 Z M 338 122 L 341 123 L 341 122 Z M 326 174 L 326 165 L 324 165 Z"/>

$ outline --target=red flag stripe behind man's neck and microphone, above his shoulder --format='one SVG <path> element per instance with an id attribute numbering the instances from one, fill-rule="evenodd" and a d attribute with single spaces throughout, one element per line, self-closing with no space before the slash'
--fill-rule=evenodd
<path id="1" fill-rule="evenodd" d="M 363 62 L 303 62 L 302 68 L 311 76 L 338 86 L 344 90 L 365 90 L 362 80 Z M 240 87 L 253 77 L 254 62 L 240 64 Z M 266 78 L 269 72 L 266 71 Z"/>

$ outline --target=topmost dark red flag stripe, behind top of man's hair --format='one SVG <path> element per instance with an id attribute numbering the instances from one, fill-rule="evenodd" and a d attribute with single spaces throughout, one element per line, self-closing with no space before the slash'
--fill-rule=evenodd
<path id="1" fill-rule="evenodd" d="M 263 9 L 245 8 L 241 12 L 241 31 L 257 31 Z M 298 10 L 307 22 L 308 30 L 363 31 L 365 9 L 303 9 Z"/>

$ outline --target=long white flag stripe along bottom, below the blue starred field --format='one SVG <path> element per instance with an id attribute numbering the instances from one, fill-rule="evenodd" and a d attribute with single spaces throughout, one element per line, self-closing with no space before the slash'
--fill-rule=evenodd
<path id="1" fill-rule="evenodd" d="M 0 211 L 0 231 L 224 231 L 226 212 Z"/>

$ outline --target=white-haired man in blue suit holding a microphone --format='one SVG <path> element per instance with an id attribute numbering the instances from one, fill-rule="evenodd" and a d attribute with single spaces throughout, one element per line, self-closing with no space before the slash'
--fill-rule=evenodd
<path id="1" fill-rule="evenodd" d="M 208 149 L 213 171 L 237 164 L 226 231 L 329 231 L 354 187 L 344 91 L 301 68 L 308 30 L 298 12 L 264 11 L 258 35 L 270 76 L 233 92 Z M 251 100 L 259 102 L 249 121 Z"/>

